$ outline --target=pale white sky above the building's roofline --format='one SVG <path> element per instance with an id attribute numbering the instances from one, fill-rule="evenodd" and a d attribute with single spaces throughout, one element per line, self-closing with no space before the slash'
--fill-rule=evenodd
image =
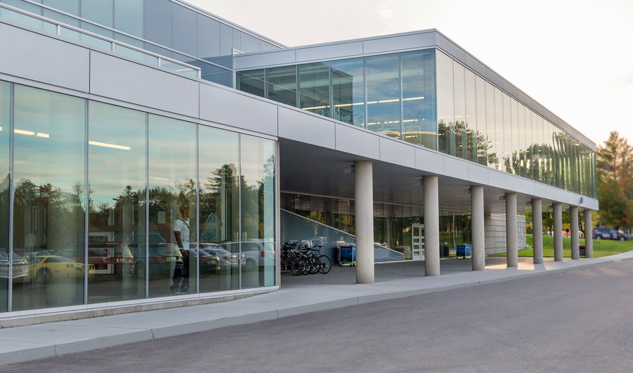
<path id="1" fill-rule="evenodd" d="M 286 46 L 436 28 L 596 144 L 633 142 L 633 0 L 186 0 Z"/>

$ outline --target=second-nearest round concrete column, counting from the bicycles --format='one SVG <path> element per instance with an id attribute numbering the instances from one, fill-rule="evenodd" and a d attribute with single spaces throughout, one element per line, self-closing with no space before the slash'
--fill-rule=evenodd
<path id="1" fill-rule="evenodd" d="M 439 201 L 437 176 L 424 176 L 424 276 L 439 276 Z"/>

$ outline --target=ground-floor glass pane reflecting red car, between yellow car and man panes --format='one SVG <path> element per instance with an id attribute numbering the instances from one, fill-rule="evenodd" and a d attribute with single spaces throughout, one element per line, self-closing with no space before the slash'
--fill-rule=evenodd
<path id="1" fill-rule="evenodd" d="M 91 101 L 88 122 L 88 303 L 144 298 L 146 114 Z"/>

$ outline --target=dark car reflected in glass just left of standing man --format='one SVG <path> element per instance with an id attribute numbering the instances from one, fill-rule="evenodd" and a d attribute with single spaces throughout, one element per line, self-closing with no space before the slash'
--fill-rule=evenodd
<path id="1" fill-rule="evenodd" d="M 145 244 L 130 243 L 134 257 L 134 273 L 145 278 Z M 174 271 L 182 269 L 182 253 L 175 243 L 153 242 L 149 244 L 149 274 L 173 276 Z"/>

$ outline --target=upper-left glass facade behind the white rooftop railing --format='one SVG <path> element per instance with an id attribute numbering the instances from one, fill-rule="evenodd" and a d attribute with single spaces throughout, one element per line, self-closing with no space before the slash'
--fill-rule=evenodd
<path id="1" fill-rule="evenodd" d="M 233 86 L 234 49 L 248 53 L 279 48 L 170 0 L 0 0 L 0 3 L 192 64 L 201 68 L 203 79 L 227 87 Z M 50 23 L 7 9 L 0 9 L 0 16 L 55 32 Z M 62 36 L 104 49 L 109 47 L 104 40 L 72 30 L 63 30 Z M 131 58 L 148 58 L 124 47 L 116 52 Z"/>

